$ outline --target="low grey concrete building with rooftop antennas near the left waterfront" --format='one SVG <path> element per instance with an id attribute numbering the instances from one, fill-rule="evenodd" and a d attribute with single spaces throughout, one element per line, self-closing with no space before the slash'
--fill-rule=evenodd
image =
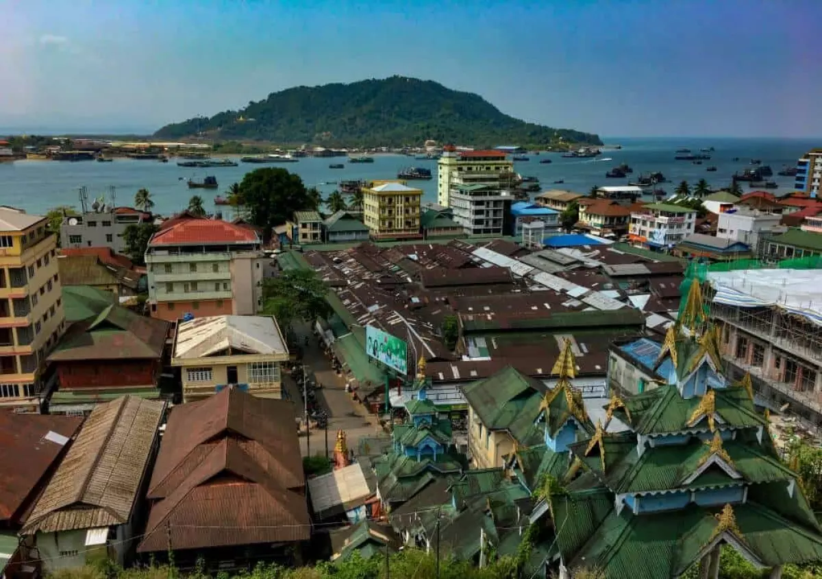
<path id="1" fill-rule="evenodd" d="M 132 207 L 100 207 L 96 211 L 63 218 L 60 225 L 63 248 L 112 248 L 114 252 L 122 253 L 126 249 L 122 239 L 126 228 L 151 220 L 150 213 Z"/>

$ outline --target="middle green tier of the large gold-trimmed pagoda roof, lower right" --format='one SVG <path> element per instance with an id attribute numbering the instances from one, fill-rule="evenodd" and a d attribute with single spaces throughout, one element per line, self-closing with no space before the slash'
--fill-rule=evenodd
<path id="1" fill-rule="evenodd" d="M 754 437 L 749 437 L 754 438 Z M 719 433 L 709 443 L 645 448 L 640 455 L 635 438 L 605 435 L 605 470 L 600 456 L 585 451 L 589 441 L 570 446 L 575 456 L 613 493 L 653 493 L 673 489 L 704 489 L 728 484 L 790 482 L 796 475 L 755 439 L 723 442 Z"/>

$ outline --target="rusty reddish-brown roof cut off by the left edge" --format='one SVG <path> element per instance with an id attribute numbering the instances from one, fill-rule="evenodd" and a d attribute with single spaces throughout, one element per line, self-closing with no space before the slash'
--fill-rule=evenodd
<path id="1" fill-rule="evenodd" d="M 0 521 L 19 525 L 83 419 L 0 412 Z M 59 436 L 53 436 L 57 433 Z"/>

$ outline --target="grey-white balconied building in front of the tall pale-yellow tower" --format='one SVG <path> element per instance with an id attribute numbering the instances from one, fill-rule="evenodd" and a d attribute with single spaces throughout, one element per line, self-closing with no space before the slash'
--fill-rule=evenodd
<path id="1" fill-rule="evenodd" d="M 449 193 L 454 220 L 468 235 L 502 235 L 510 222 L 514 196 L 483 183 L 452 183 Z"/>

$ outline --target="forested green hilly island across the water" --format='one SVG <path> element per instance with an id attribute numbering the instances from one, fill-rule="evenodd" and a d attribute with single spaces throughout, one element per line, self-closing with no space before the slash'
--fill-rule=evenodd
<path id="1" fill-rule="evenodd" d="M 245 109 L 166 125 L 155 138 L 205 137 L 326 146 L 602 145 L 598 135 L 526 123 L 479 95 L 404 76 L 348 85 L 296 86 Z"/>

